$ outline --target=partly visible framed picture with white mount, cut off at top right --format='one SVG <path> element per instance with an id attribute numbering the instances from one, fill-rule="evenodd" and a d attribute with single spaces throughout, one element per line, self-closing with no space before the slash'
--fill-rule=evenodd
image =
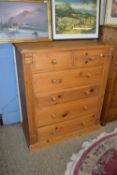
<path id="1" fill-rule="evenodd" d="M 117 0 L 107 0 L 105 25 L 117 26 Z"/>

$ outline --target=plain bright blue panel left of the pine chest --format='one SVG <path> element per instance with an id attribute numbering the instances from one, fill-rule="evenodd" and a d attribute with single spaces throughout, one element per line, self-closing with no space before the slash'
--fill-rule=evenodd
<path id="1" fill-rule="evenodd" d="M 12 44 L 0 44 L 0 114 L 4 124 L 20 121 Z"/>

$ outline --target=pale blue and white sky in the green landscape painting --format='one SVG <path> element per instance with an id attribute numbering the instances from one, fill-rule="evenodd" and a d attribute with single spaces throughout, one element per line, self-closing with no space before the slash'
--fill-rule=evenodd
<path id="1" fill-rule="evenodd" d="M 55 0 L 56 4 L 61 4 L 61 3 L 70 3 L 72 8 L 75 9 L 85 9 L 85 10 L 92 10 L 93 8 L 93 3 L 90 0 L 87 0 L 87 3 L 81 3 L 81 0 Z"/>

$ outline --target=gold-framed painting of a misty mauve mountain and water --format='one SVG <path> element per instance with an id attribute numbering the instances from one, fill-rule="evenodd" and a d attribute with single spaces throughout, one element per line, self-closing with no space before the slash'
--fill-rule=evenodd
<path id="1" fill-rule="evenodd" d="M 0 43 L 51 40 L 50 0 L 0 1 Z"/>

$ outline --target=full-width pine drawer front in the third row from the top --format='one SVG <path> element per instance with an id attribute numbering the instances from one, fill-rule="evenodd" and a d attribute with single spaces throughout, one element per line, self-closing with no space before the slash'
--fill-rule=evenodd
<path id="1" fill-rule="evenodd" d="M 34 103 L 38 108 L 44 108 L 55 104 L 97 96 L 99 90 L 99 85 L 90 85 L 80 88 L 64 89 L 54 93 L 37 93 L 35 94 Z"/>

